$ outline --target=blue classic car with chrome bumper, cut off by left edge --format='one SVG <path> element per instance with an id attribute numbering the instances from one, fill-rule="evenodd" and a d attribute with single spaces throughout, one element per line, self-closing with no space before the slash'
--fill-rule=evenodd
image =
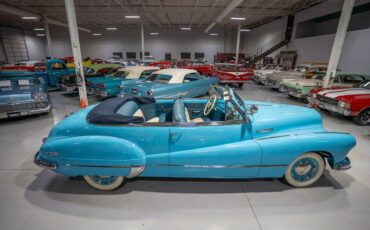
<path id="1" fill-rule="evenodd" d="M 0 75 L 0 119 L 50 111 L 47 86 L 35 75 Z"/>

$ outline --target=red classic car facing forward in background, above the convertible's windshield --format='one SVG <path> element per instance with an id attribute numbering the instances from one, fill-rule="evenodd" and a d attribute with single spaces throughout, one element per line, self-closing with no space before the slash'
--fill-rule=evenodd
<path id="1" fill-rule="evenodd" d="M 243 87 L 246 81 L 252 79 L 253 69 L 230 63 L 216 63 L 207 75 L 217 77 L 220 84 L 235 83 L 239 87 Z"/>

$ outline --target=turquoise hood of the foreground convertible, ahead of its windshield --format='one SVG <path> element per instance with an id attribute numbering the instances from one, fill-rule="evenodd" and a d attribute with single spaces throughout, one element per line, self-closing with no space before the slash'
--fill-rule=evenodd
<path id="1" fill-rule="evenodd" d="M 246 104 L 258 106 L 258 111 L 250 116 L 254 138 L 324 130 L 321 116 L 314 109 L 263 102 Z"/>

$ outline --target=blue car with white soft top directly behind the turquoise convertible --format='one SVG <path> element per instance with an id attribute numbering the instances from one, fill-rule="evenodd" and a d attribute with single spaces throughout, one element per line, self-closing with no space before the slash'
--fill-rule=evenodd
<path id="1" fill-rule="evenodd" d="M 192 69 L 161 69 L 144 81 L 124 86 L 118 96 L 198 97 L 209 93 L 218 82 L 218 78 L 199 75 Z"/>

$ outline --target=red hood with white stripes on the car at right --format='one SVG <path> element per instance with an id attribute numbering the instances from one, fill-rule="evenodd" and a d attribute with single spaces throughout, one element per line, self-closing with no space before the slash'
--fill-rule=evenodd
<path id="1" fill-rule="evenodd" d="M 319 91 L 317 94 L 333 99 L 355 99 L 355 98 L 368 98 L 370 99 L 370 89 L 364 88 L 344 88 L 344 89 L 328 89 Z"/>

